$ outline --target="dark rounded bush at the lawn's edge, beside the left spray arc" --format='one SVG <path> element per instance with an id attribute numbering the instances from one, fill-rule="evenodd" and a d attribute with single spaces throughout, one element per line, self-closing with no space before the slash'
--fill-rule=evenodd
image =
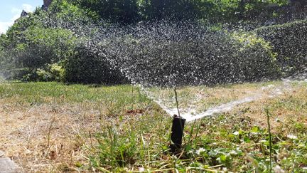
<path id="1" fill-rule="evenodd" d="M 124 83 L 122 73 L 114 70 L 92 45 L 77 46 L 64 67 L 64 80 L 69 83 Z"/>

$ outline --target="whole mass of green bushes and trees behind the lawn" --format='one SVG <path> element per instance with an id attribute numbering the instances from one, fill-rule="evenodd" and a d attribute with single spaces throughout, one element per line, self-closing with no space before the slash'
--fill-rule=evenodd
<path id="1" fill-rule="evenodd" d="M 23 81 L 126 83 L 131 78 L 119 65 L 124 62 L 117 61 L 126 57 L 129 63 L 148 59 L 130 69 L 134 76 L 148 72 L 136 73 L 147 65 L 153 69 L 151 75 L 182 79 L 172 69 L 157 73 L 161 64 L 148 64 L 157 58 L 168 57 L 170 63 L 198 57 L 203 67 L 198 78 L 209 80 L 181 84 L 279 78 L 307 63 L 306 4 L 303 0 L 54 0 L 48 10 L 36 9 L 1 35 L 0 73 Z M 183 23 L 190 24 L 183 27 Z M 169 38 L 166 26 L 177 35 Z M 188 27 L 198 30 L 185 33 L 191 30 Z M 141 34 L 131 32 L 139 28 Z M 202 34 L 206 36 L 200 38 Z M 174 48 L 183 51 L 175 53 Z M 183 65 L 179 72 L 186 74 L 190 68 Z"/>

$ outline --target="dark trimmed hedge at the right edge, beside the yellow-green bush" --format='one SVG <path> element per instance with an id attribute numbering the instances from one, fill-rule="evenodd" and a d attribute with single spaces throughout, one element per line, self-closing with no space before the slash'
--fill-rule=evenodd
<path id="1" fill-rule="evenodd" d="M 258 28 L 253 31 L 269 41 L 284 73 L 295 73 L 307 65 L 307 20 Z"/>

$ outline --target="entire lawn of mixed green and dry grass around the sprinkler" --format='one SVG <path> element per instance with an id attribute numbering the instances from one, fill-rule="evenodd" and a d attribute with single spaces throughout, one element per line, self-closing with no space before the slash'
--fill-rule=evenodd
<path id="1" fill-rule="evenodd" d="M 266 85 L 281 82 L 179 88 L 178 98 L 189 105 L 201 93 L 197 107 L 208 109 Z M 171 118 L 139 88 L 4 83 L 0 150 L 26 172 L 269 172 L 271 144 L 273 169 L 306 172 L 307 84 L 291 86 L 275 98 L 264 95 L 188 123 L 183 149 L 173 155 Z M 158 91 L 151 88 L 173 97 Z"/>

